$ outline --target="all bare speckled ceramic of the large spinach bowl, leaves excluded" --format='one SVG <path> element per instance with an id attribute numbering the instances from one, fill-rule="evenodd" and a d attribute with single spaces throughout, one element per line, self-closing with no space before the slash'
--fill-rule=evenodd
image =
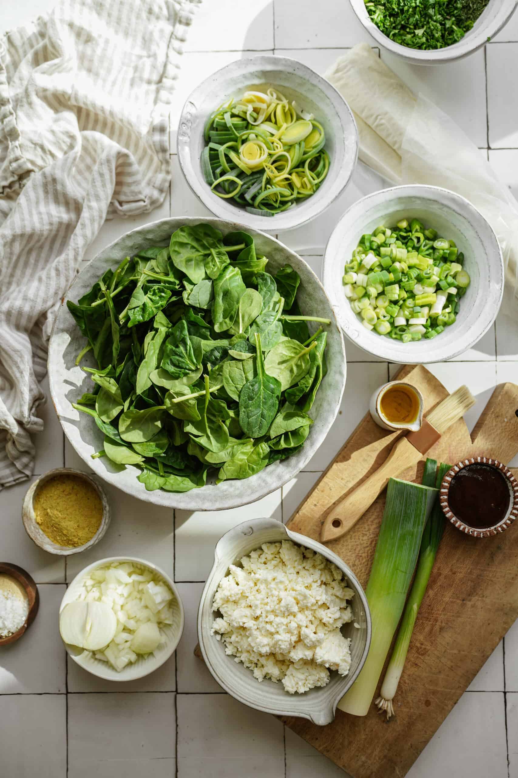
<path id="1" fill-rule="evenodd" d="M 276 273 L 289 263 L 301 276 L 298 300 L 301 310 L 308 316 L 327 317 L 331 324 L 327 327 L 328 345 L 325 356 L 328 373 L 322 380 L 310 415 L 315 420 L 311 432 L 302 450 L 294 457 L 269 465 L 257 475 L 242 481 L 224 481 L 219 485 L 206 485 L 201 489 L 177 494 L 176 492 L 147 492 L 144 485 L 137 481 L 138 469 L 132 465 L 126 468 L 113 464 L 108 457 L 92 459 L 91 454 L 103 448 L 103 433 L 98 429 L 91 416 L 72 408 L 83 392 L 89 391 L 92 381 L 87 373 L 75 365 L 75 358 L 85 345 L 79 328 L 66 306 L 67 300 L 78 300 L 85 294 L 107 268 L 116 268 L 124 258 L 137 254 L 150 245 L 168 245 L 171 234 L 184 224 L 208 223 L 226 234 L 234 230 L 248 230 L 256 240 L 260 254 L 269 258 L 267 269 Z M 310 322 L 311 325 L 311 322 Z M 318 325 L 317 325 L 318 326 Z M 311 331 L 315 331 L 310 326 Z M 92 355 L 88 353 L 82 360 L 84 366 L 94 366 Z M 219 219 L 161 219 L 158 222 L 133 230 L 120 237 L 97 255 L 95 259 L 79 273 L 74 284 L 68 290 L 57 314 L 54 330 L 50 338 L 48 370 L 50 394 L 64 433 L 79 456 L 105 481 L 122 489 L 134 497 L 144 499 L 155 505 L 183 508 L 185 510 L 223 510 L 235 508 L 266 496 L 287 483 L 304 465 L 308 463 L 329 432 L 338 413 L 343 389 L 346 383 L 346 356 L 342 332 L 332 312 L 322 284 L 311 268 L 293 251 L 278 240 L 265 233 L 259 233 L 241 224 L 222 222 Z"/>

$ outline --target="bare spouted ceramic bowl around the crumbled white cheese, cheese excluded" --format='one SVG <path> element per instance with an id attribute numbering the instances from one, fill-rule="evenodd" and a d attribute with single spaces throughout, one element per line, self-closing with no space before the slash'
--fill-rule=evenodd
<path id="1" fill-rule="evenodd" d="M 342 627 L 342 633 L 351 638 L 351 667 L 349 675 L 342 676 L 331 673 L 327 686 L 310 689 L 304 694 L 290 695 L 284 691 L 283 685 L 273 681 L 259 683 L 253 677 L 252 671 L 245 668 L 235 657 L 228 657 L 224 652 L 224 644 L 210 635 L 212 623 L 216 614 L 212 611 L 214 594 L 220 581 L 228 573 L 230 565 L 238 562 L 242 556 L 249 554 L 262 543 L 292 540 L 294 543 L 312 548 L 326 559 L 334 562 L 345 574 L 349 587 L 354 591 L 351 600 L 353 621 Z M 358 627 L 354 626 L 357 624 Z M 198 640 L 203 659 L 217 683 L 239 702 L 249 705 L 264 713 L 274 713 L 276 716 L 301 716 L 310 719 L 314 724 L 329 724 L 335 717 L 336 706 L 346 691 L 353 685 L 363 664 L 367 659 L 370 647 L 370 612 L 367 598 L 362 587 L 356 580 L 353 571 L 333 554 L 322 543 L 306 538 L 297 532 L 291 532 L 280 521 L 275 519 L 254 519 L 239 524 L 223 535 L 218 541 L 214 552 L 214 566 L 210 571 L 207 583 L 203 589 L 198 609 Z"/>

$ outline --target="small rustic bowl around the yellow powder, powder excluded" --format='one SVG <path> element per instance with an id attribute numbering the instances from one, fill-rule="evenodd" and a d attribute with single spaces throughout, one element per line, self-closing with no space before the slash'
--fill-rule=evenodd
<path id="1" fill-rule="evenodd" d="M 99 495 L 99 498 L 101 499 L 101 503 L 103 503 L 103 518 L 99 524 L 99 529 L 96 531 L 96 534 L 90 538 L 89 541 L 83 545 L 78 545 L 77 547 L 57 545 L 57 543 L 51 541 L 50 538 L 48 538 L 47 535 L 43 532 L 40 524 L 37 523 L 36 517 L 34 516 L 33 501 L 38 489 L 40 489 L 40 486 L 48 481 L 49 478 L 54 478 L 54 475 L 61 474 L 77 475 L 79 478 L 84 478 L 85 481 L 88 481 L 89 484 L 93 486 Z M 99 482 L 97 482 L 96 478 L 92 478 L 91 475 L 88 475 L 81 470 L 74 470 L 72 468 L 56 468 L 55 470 L 50 470 L 48 473 L 45 473 L 45 475 L 42 475 L 40 478 L 38 478 L 37 481 L 35 481 L 33 485 L 31 485 L 27 490 L 26 496 L 23 499 L 22 520 L 23 526 L 25 527 L 26 533 L 29 535 L 30 539 L 36 543 L 37 546 L 43 548 L 43 551 L 47 551 L 50 554 L 57 554 L 59 556 L 70 556 L 71 554 L 79 554 L 82 551 L 86 551 L 87 548 L 92 548 L 92 545 L 96 545 L 96 543 L 98 543 L 99 540 L 103 537 L 103 534 L 106 532 L 108 525 L 110 524 L 110 506 L 108 504 L 106 492 L 99 485 Z"/>

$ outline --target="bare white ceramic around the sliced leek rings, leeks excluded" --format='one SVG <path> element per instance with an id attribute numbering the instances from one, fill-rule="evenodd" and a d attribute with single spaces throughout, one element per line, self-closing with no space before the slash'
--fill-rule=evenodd
<path id="1" fill-rule="evenodd" d="M 287 100 L 315 114 L 325 131 L 329 173 L 311 195 L 276 216 L 255 216 L 239 205 L 214 195 L 203 177 L 201 152 L 203 129 L 210 114 L 225 100 L 242 96 L 247 89 L 280 91 Z M 322 213 L 349 184 L 358 156 L 358 133 L 349 106 L 334 86 L 294 59 L 259 56 L 238 59 L 205 79 L 183 107 L 178 127 L 178 156 L 189 187 L 197 198 L 221 219 L 236 219 L 256 230 L 278 233 L 290 230 Z"/>

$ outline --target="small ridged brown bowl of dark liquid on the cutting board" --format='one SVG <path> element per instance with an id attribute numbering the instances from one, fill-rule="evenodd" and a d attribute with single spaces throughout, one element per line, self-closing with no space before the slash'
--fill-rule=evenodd
<path id="1" fill-rule="evenodd" d="M 497 459 L 464 459 L 444 476 L 440 506 L 457 529 L 474 538 L 489 538 L 505 531 L 518 516 L 518 482 Z"/>

